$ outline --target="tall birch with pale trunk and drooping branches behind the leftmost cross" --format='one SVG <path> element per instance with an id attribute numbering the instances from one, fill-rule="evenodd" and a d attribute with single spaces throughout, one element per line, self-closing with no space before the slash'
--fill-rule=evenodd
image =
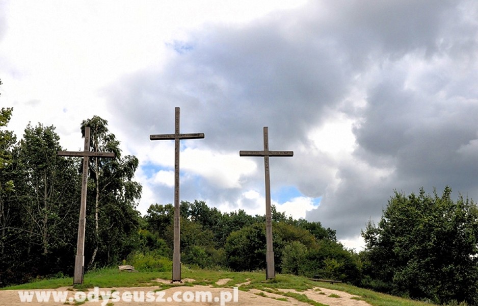
<path id="1" fill-rule="evenodd" d="M 140 214 L 135 208 L 142 188 L 133 180 L 138 159 L 121 157 L 120 142 L 109 132 L 108 121 L 93 116 L 82 122 L 82 131 L 85 126 L 91 129 L 91 150 L 116 155 L 114 159 L 90 158 L 93 186 L 89 184 L 87 223 L 94 231 L 87 234 L 87 242 L 94 245 L 88 264 L 88 268 L 92 268 L 97 260 L 100 265 L 108 265 L 126 258 L 131 251 L 135 244 L 132 236 L 138 235 Z"/>

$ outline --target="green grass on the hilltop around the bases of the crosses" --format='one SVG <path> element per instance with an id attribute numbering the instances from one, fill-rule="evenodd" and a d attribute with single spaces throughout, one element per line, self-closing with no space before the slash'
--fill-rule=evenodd
<path id="1" fill-rule="evenodd" d="M 162 284 L 154 282 L 156 278 L 171 279 L 171 272 L 147 272 L 140 271 L 135 273 L 120 272 L 116 268 L 105 268 L 96 271 L 91 271 L 85 274 L 84 284 L 73 286 L 74 290 L 87 290 L 88 288 L 112 288 L 112 287 L 143 287 L 143 286 L 159 286 L 157 290 L 165 290 L 174 286 L 194 286 L 203 285 L 211 287 L 232 288 L 236 284 L 250 282 L 247 285 L 239 287 L 240 290 L 249 291 L 251 289 L 260 290 L 265 293 L 280 294 L 284 298 L 280 300 L 287 300 L 293 298 L 303 301 L 315 306 L 323 306 L 309 299 L 304 292 L 306 290 L 317 290 L 316 287 L 328 288 L 337 291 L 347 292 L 358 296 L 354 299 L 364 300 L 373 306 L 430 306 L 430 303 L 414 301 L 410 299 L 400 298 L 392 295 L 374 292 L 371 290 L 358 288 L 348 284 L 329 284 L 322 282 L 311 281 L 310 279 L 289 275 L 277 274 L 275 279 L 265 279 L 265 273 L 259 272 L 231 272 L 220 270 L 204 270 L 191 269 L 183 267 L 181 272 L 182 278 L 192 278 L 192 283 L 185 284 Z M 217 285 L 219 279 L 230 278 L 226 285 Z M 0 290 L 32 290 L 32 289 L 47 289 L 70 287 L 73 283 L 72 277 L 42 279 L 28 284 L 5 287 Z M 296 292 L 282 292 L 278 289 L 294 289 Z M 70 289 L 71 290 L 71 289 Z M 262 295 L 262 294 L 259 294 Z M 332 297 L 340 297 L 336 294 L 331 294 Z"/>

